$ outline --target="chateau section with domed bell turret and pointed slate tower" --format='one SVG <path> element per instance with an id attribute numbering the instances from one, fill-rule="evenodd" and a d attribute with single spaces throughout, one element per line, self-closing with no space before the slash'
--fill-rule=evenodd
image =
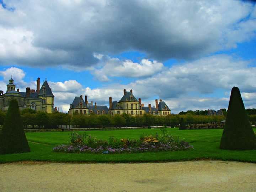
<path id="1" fill-rule="evenodd" d="M 20 110 L 30 108 L 35 111 L 44 111 L 47 113 L 52 113 L 54 111 L 54 95 L 50 89 L 47 81 L 43 82 L 40 87 L 40 78 L 37 78 L 36 90 L 26 88 L 26 92 L 20 92 L 20 89 L 16 89 L 14 80 L 11 78 L 9 84 L 6 85 L 6 93 L 0 90 L 0 109 L 2 111 L 7 111 L 9 107 L 9 102 L 11 99 L 16 99 Z"/>

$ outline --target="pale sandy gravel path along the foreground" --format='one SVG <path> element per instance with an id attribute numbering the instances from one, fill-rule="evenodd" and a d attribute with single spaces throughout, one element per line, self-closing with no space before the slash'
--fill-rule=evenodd
<path id="1" fill-rule="evenodd" d="M 0 164 L 1 192 L 255 192 L 256 164 Z"/>

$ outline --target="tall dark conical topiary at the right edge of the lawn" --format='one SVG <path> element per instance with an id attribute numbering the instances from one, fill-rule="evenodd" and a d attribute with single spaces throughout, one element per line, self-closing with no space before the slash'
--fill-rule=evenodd
<path id="1" fill-rule="evenodd" d="M 231 90 L 228 115 L 222 133 L 220 149 L 256 149 L 256 137 L 245 111 L 238 87 Z"/>

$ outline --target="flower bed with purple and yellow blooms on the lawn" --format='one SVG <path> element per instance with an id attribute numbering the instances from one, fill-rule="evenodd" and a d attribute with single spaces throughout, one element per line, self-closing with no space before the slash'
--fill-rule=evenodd
<path id="1" fill-rule="evenodd" d="M 61 153 L 144 153 L 158 151 L 179 151 L 193 149 L 185 140 L 170 134 L 140 135 L 138 140 L 116 139 L 110 137 L 108 141 L 96 140 L 95 137 L 86 134 L 71 134 L 68 145 L 58 145 L 53 148 L 55 152 Z"/>

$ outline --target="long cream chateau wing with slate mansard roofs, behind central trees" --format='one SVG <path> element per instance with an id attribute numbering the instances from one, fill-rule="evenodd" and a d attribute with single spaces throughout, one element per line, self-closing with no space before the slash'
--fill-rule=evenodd
<path id="1" fill-rule="evenodd" d="M 122 114 L 127 113 L 130 115 L 143 115 L 145 113 L 153 114 L 153 115 L 161 115 L 165 116 L 171 113 L 171 110 L 166 105 L 164 101 L 160 99 L 159 103 L 156 99 L 156 106 L 151 107 L 151 104 L 148 107 L 144 107 L 144 104 L 141 102 L 141 98 L 137 100 L 133 95 L 132 90 L 126 91 L 125 89 L 124 95 L 121 100 L 113 101 L 112 97 L 109 98 L 110 107 L 108 108 L 105 105 L 93 105 L 93 102 L 88 103 L 87 96 L 85 96 L 85 101 L 82 98 L 76 96 L 72 104 L 70 104 L 69 114 L 74 113 L 82 113 L 82 114 L 90 114 L 94 112 L 96 114 Z"/>

